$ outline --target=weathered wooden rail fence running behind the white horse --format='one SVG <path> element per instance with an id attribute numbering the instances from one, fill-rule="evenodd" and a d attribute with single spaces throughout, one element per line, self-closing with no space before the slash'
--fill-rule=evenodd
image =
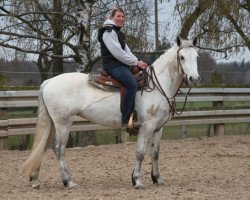
<path id="1" fill-rule="evenodd" d="M 186 88 L 182 91 L 187 92 Z M 15 108 L 36 108 L 38 91 L 0 91 L 0 148 L 11 135 L 35 133 L 36 118 L 7 118 L 6 113 Z M 184 102 L 183 95 L 176 96 L 177 103 Z M 188 95 L 188 102 L 210 102 L 206 109 L 188 107 L 180 116 L 166 126 L 214 124 L 215 134 L 224 135 L 225 123 L 250 122 L 250 88 L 193 88 Z M 233 107 L 225 107 L 227 102 L 234 102 Z M 237 106 L 237 102 L 249 102 L 246 106 Z M 110 129 L 93 124 L 83 118 L 75 117 L 71 131 Z"/>

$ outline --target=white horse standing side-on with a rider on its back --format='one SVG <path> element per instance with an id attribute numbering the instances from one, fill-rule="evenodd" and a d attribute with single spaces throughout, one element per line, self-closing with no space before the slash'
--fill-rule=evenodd
<path id="1" fill-rule="evenodd" d="M 197 72 L 197 52 L 193 41 L 177 38 L 177 45 L 161 55 L 154 63 L 156 77 L 165 97 L 155 87 L 151 92 L 138 92 L 135 100 L 138 121 L 141 123 L 138 135 L 136 162 L 132 173 L 135 188 L 143 188 L 140 170 L 147 147 L 152 159 L 151 177 L 153 183 L 164 185 L 158 170 L 162 126 L 172 117 L 171 106 L 166 98 L 173 97 L 183 78 L 196 84 L 200 77 Z M 38 176 L 42 156 L 49 144 L 59 161 L 65 187 L 76 183 L 69 174 L 64 160 L 70 126 L 75 115 L 108 127 L 121 127 L 120 94 L 97 89 L 88 83 L 88 75 L 65 73 L 46 80 L 40 88 L 38 121 L 31 155 L 22 165 L 22 172 L 30 177 L 33 188 L 40 186 Z M 111 109 L 112 108 L 112 109 Z"/>

